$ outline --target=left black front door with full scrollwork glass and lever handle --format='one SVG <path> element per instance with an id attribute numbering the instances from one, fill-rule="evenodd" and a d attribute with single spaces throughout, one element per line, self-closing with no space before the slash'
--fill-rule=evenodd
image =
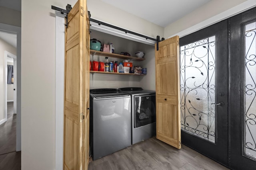
<path id="1" fill-rule="evenodd" d="M 181 141 L 228 163 L 227 20 L 180 38 Z"/>

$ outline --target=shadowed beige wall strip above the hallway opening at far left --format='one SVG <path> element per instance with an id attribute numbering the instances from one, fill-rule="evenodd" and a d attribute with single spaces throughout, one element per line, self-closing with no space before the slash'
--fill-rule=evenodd
<path id="1" fill-rule="evenodd" d="M 21 12 L 0 6 L 0 23 L 21 26 Z"/>

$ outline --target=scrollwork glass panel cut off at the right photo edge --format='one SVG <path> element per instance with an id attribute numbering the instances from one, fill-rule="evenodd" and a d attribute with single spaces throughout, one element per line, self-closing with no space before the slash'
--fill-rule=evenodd
<path id="1" fill-rule="evenodd" d="M 245 25 L 244 128 L 245 153 L 256 158 L 256 22 Z"/>

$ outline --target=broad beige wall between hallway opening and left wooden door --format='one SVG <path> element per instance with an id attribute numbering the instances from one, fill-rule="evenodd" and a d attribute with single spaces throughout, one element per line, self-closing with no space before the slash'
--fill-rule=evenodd
<path id="1" fill-rule="evenodd" d="M 55 11 L 76 0 L 22 0 L 22 170 L 55 169 Z M 63 25 L 64 26 L 64 25 Z"/>

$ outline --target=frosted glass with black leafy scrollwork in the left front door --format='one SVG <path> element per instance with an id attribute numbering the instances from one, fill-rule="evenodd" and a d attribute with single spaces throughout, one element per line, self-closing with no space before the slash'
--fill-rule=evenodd
<path id="1" fill-rule="evenodd" d="M 182 131 L 215 142 L 215 36 L 180 47 Z"/>

